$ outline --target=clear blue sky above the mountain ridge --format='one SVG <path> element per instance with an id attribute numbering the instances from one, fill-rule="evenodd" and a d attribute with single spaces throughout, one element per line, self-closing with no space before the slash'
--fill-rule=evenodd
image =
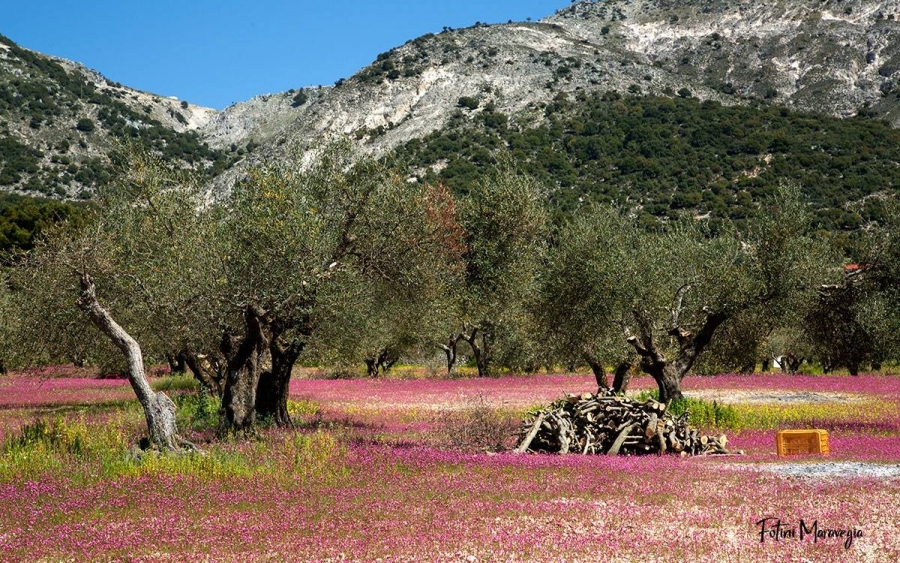
<path id="1" fill-rule="evenodd" d="M 543 18 L 570 0 L 4 0 L 0 34 L 122 84 L 224 108 L 332 84 L 444 26 Z"/>

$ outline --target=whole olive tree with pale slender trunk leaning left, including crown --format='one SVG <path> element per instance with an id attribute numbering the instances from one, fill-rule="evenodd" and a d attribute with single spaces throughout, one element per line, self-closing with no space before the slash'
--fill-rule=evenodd
<path id="1" fill-rule="evenodd" d="M 124 359 L 150 442 L 180 449 L 188 444 L 177 434 L 175 405 L 150 387 L 144 354 L 204 339 L 191 307 L 204 299 L 208 271 L 203 197 L 188 174 L 152 154 L 131 149 L 122 164 L 83 227 L 60 227 L 13 272 L 23 344 L 53 357 L 101 336 Z"/>

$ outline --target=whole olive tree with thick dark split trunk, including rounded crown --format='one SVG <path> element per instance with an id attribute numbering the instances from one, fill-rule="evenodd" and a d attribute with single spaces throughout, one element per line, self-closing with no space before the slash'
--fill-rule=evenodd
<path id="1" fill-rule="evenodd" d="M 223 431 L 290 424 L 291 369 L 340 297 L 414 300 L 435 283 L 450 236 L 435 190 L 354 156 L 333 145 L 253 170 L 218 207 L 218 293 L 242 318 L 223 340 Z"/>

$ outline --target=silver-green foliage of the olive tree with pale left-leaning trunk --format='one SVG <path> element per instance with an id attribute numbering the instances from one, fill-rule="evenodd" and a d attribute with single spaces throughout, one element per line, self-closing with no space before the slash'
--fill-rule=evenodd
<path id="1" fill-rule="evenodd" d="M 75 306 L 79 277 L 144 348 L 166 352 L 210 338 L 204 278 L 209 230 L 192 176 L 126 147 L 122 173 L 92 202 L 85 225 L 48 233 L 12 273 L 26 314 L 20 324 L 30 362 L 83 361 L 115 368 L 121 354 Z"/>

